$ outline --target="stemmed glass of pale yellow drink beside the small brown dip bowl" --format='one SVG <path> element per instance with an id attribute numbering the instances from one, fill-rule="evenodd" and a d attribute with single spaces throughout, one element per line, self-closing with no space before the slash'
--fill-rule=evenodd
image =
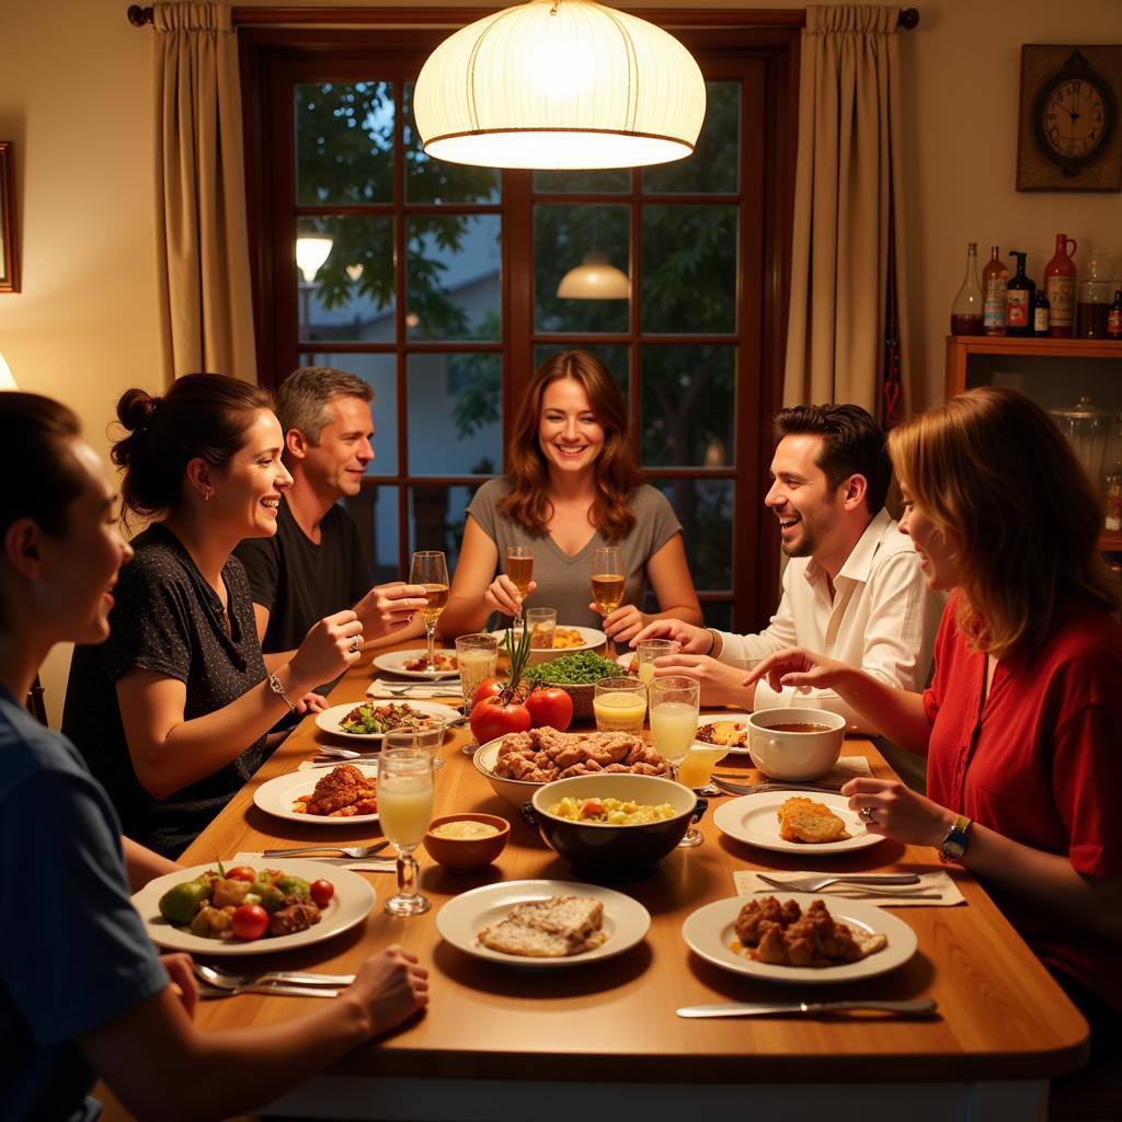
<path id="1" fill-rule="evenodd" d="M 385 748 L 378 760 L 378 817 L 397 850 L 397 894 L 386 901 L 390 916 L 420 916 L 432 901 L 417 892 L 413 850 L 432 821 L 432 756 L 423 748 Z"/>

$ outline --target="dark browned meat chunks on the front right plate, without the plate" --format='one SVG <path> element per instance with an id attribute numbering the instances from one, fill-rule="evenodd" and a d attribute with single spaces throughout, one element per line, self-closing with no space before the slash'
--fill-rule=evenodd
<path id="1" fill-rule="evenodd" d="M 835 922 L 821 900 L 806 911 L 794 900 L 749 900 L 736 919 L 736 937 L 748 955 L 772 966 L 839 966 L 883 950 L 884 935 L 850 930 Z"/>

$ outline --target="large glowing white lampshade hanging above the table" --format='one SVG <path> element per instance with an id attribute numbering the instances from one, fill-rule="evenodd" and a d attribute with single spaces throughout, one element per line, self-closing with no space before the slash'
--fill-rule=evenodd
<path id="1" fill-rule="evenodd" d="M 530 0 L 456 31 L 413 94 L 426 155 L 481 167 L 643 167 L 693 151 L 705 79 L 671 35 L 594 0 Z"/>

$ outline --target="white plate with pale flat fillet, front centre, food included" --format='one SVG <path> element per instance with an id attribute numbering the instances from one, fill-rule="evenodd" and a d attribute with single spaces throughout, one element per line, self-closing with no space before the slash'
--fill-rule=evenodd
<path id="1" fill-rule="evenodd" d="M 436 930 L 466 954 L 546 969 L 622 955 L 650 927 L 651 913 L 637 900 L 574 881 L 485 884 L 436 913 Z"/>

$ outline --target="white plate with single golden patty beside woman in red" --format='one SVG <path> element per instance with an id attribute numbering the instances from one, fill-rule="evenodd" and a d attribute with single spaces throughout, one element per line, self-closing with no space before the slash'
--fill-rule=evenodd
<path id="1" fill-rule="evenodd" d="M 870 834 L 849 800 L 840 794 L 769 791 L 721 803 L 714 825 L 737 842 L 775 853 L 850 853 L 884 840 Z"/>

